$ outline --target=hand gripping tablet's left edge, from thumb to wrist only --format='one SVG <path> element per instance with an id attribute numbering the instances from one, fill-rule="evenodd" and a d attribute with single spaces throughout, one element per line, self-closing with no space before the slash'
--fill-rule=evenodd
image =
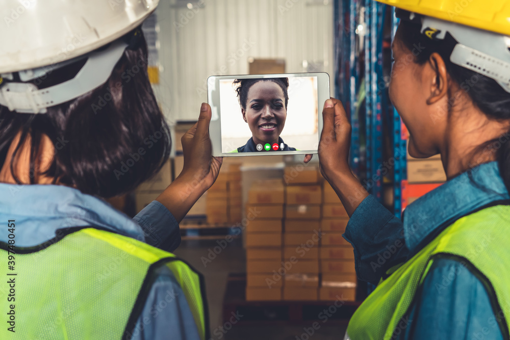
<path id="1" fill-rule="evenodd" d="M 209 123 L 211 122 L 211 107 L 202 103 L 198 121 L 184 134 L 183 144 L 184 168 L 179 177 L 191 177 L 193 180 L 209 189 L 218 177 L 222 157 L 212 156 L 211 138 L 209 137 Z"/>

